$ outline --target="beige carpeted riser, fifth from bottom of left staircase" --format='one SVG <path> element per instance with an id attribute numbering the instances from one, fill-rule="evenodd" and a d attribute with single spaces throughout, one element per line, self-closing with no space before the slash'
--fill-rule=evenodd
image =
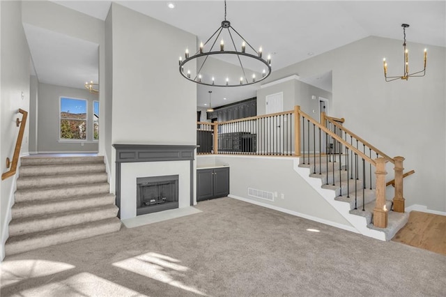
<path id="1" fill-rule="evenodd" d="M 80 185 L 90 183 L 107 183 L 107 174 L 105 172 L 98 174 L 82 174 L 75 176 L 47 176 L 35 178 L 18 178 L 17 190 L 49 188 L 59 185 Z"/>

